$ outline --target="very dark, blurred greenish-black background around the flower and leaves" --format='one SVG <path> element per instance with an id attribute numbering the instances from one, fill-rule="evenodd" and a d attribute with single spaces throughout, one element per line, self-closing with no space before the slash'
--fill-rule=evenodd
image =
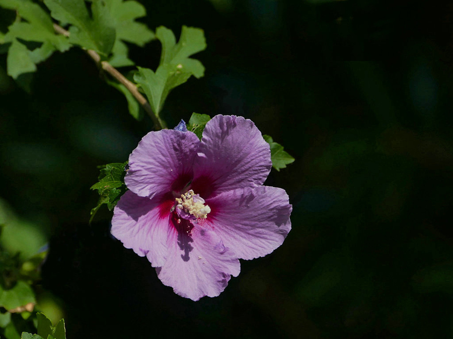
<path id="1" fill-rule="evenodd" d="M 97 165 L 123 162 L 135 121 L 81 49 L 38 66 L 28 94 L 1 56 L 0 196 L 51 236 L 42 286 L 71 338 L 453 337 L 453 6 L 435 2 L 154 0 L 150 28 L 204 29 L 205 77 L 168 97 L 169 126 L 252 119 L 295 157 L 267 185 L 292 231 L 216 298 L 164 286 L 109 235 Z M 130 45 L 156 68 L 160 44 Z M 123 71 L 133 68 L 125 68 Z"/>

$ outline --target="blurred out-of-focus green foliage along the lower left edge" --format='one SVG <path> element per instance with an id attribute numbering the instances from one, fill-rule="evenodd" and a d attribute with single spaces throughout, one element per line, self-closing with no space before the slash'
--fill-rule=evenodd
<path id="1" fill-rule="evenodd" d="M 0 334 L 7 339 L 33 327 L 33 285 L 40 279 L 47 241 L 39 225 L 17 217 L 0 199 Z"/>

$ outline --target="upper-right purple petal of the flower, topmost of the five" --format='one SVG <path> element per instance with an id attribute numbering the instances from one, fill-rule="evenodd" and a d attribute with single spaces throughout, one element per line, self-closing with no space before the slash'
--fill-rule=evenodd
<path id="1" fill-rule="evenodd" d="M 236 188 L 262 185 L 272 167 L 269 144 L 255 124 L 242 117 L 212 118 L 197 152 L 192 188 L 205 199 Z"/>

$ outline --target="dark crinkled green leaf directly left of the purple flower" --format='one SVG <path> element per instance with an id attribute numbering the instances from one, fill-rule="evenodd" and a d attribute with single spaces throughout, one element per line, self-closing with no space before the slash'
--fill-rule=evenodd
<path id="1" fill-rule="evenodd" d="M 97 206 L 91 210 L 90 222 L 103 204 L 107 204 L 109 210 L 112 210 L 121 195 L 126 192 L 127 187 L 124 184 L 126 165 L 127 161 L 125 163 L 112 163 L 100 166 L 99 182 L 91 186 L 91 189 L 98 190 L 100 197 Z"/>

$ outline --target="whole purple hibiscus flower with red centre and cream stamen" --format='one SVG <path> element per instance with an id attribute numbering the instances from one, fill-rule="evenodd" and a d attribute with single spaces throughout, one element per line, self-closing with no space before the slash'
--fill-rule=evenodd
<path id="1" fill-rule="evenodd" d="M 242 117 L 215 116 L 201 141 L 150 132 L 129 157 L 112 235 L 177 294 L 217 296 L 238 276 L 238 259 L 271 253 L 291 229 L 286 192 L 262 186 L 271 166 L 269 144 Z"/>

